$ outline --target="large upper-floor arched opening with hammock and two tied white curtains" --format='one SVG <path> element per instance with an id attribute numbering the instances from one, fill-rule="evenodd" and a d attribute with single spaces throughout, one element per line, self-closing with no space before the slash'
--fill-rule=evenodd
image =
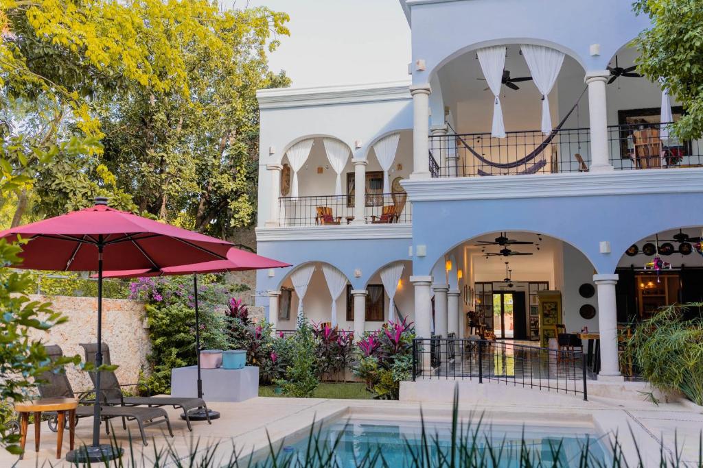
<path id="1" fill-rule="evenodd" d="M 449 159 L 451 168 L 453 158 L 457 159 L 456 175 L 467 177 L 588 168 L 588 110 L 583 107 L 587 99 L 583 94 L 585 71 L 581 63 L 556 45 L 544 45 L 565 54 L 547 95 L 550 128 L 558 129 L 548 138 L 542 131 L 543 96 L 531 76 L 522 44 L 531 42 L 505 45 L 498 95 L 505 128 L 503 138 L 496 138 L 491 132 L 492 116 L 498 112 L 494 105 L 496 97 L 486 81 L 478 47 L 453 56 L 434 72 L 441 88 L 444 121 L 449 126 L 449 135 L 435 134 L 430 143 L 432 155 L 441 168 L 446 163 L 439 160 Z M 436 122 L 437 116 L 433 120 Z M 445 172 L 453 175 L 451 169 Z"/>

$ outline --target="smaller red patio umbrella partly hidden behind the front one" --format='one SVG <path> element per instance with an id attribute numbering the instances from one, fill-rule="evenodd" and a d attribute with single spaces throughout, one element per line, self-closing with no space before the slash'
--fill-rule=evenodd
<path id="1" fill-rule="evenodd" d="M 255 253 L 230 248 L 227 251 L 226 260 L 212 260 L 211 262 L 195 263 L 193 265 L 180 265 L 178 267 L 165 267 L 160 270 L 155 269 L 133 269 L 116 270 L 104 272 L 103 278 L 134 278 L 139 276 L 176 276 L 181 274 L 193 275 L 193 299 L 195 305 L 195 361 L 198 366 L 198 398 L 202 399 L 202 380 L 200 378 L 200 316 L 198 314 L 198 274 L 199 273 L 225 273 L 243 272 L 251 269 L 285 268 L 291 267 L 290 263 L 279 262 L 272 258 L 262 257 Z M 191 420 L 217 419 L 217 411 L 205 408 L 198 408 L 188 413 Z M 181 415 L 185 417 L 185 415 Z"/>

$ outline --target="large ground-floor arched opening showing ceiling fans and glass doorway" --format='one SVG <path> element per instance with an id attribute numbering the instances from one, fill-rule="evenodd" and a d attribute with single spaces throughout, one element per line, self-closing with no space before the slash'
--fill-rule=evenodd
<path id="1" fill-rule="evenodd" d="M 456 284 L 459 290 L 463 336 L 534 341 L 544 347 L 556 347 L 557 325 L 568 333 L 598 331 L 593 274 L 593 264 L 580 250 L 533 232 L 468 239 L 444 253 L 432 272 L 434 283 Z M 545 310 L 541 297 L 547 294 L 557 305 Z"/>

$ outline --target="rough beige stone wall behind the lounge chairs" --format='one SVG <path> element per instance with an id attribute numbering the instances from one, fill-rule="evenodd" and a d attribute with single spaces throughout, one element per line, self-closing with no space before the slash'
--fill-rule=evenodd
<path id="1" fill-rule="evenodd" d="M 32 300 L 49 301 L 55 312 L 67 316 L 68 321 L 49 332 L 34 333 L 45 345 L 59 345 L 63 354 L 79 354 L 84 360 L 79 343 L 96 342 L 97 307 L 95 297 L 68 297 L 31 295 Z M 112 364 L 121 384 L 137 382 L 139 372 L 147 368 L 146 356 L 150 352 L 148 330 L 144 328 L 144 305 L 125 299 L 103 299 L 103 342 L 110 347 Z M 67 375 L 75 392 L 91 389 L 90 377 L 72 366 Z"/>

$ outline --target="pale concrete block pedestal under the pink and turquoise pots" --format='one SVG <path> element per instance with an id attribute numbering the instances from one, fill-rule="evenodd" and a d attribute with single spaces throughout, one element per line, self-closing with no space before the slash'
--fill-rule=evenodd
<path id="1" fill-rule="evenodd" d="M 211 401 L 246 401 L 259 396 L 259 368 L 201 369 L 202 399 Z M 198 368 L 171 370 L 171 396 L 198 396 Z"/>

